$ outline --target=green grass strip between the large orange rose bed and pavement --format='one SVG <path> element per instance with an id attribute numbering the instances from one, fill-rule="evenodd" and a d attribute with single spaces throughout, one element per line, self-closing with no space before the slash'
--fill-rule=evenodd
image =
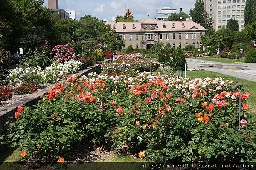
<path id="1" fill-rule="evenodd" d="M 234 81 L 234 84 L 237 82 L 241 82 L 241 84 L 244 86 L 244 90 L 249 90 L 250 92 L 250 100 L 248 100 L 250 111 L 256 115 L 256 88 L 255 88 L 255 82 L 253 81 L 247 81 L 241 78 L 235 78 L 229 75 L 223 75 L 217 72 L 211 72 L 211 71 L 192 71 L 192 72 L 187 72 L 187 77 L 190 78 L 216 78 L 216 77 L 224 77 L 226 79 L 230 79 Z"/>

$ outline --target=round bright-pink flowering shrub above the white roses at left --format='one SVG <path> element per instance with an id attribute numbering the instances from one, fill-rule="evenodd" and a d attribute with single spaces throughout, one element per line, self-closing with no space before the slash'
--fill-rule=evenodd
<path id="1" fill-rule="evenodd" d="M 70 59 L 75 58 L 75 54 L 72 52 L 72 48 L 67 45 L 57 45 L 52 50 L 55 53 L 55 57 L 58 62 L 63 63 L 64 61 L 68 61 Z"/>

